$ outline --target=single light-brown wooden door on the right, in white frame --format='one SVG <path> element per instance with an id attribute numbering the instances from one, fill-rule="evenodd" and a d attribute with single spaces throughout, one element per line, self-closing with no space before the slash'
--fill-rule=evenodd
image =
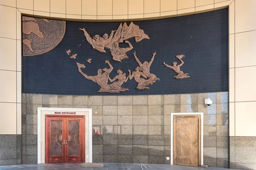
<path id="1" fill-rule="evenodd" d="M 200 166 L 200 115 L 174 116 L 174 164 Z"/>

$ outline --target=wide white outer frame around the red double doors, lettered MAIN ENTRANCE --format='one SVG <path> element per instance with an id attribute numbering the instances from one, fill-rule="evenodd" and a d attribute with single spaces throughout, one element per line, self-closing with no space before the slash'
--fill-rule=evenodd
<path id="1" fill-rule="evenodd" d="M 89 163 L 93 162 L 93 126 L 92 126 L 92 112 L 93 110 L 91 108 L 38 108 L 38 125 L 37 125 L 37 131 L 38 131 L 38 164 L 45 163 L 45 140 L 41 139 L 41 135 L 43 132 L 45 132 L 45 116 L 44 118 L 41 118 L 42 115 L 46 115 L 45 113 L 41 113 L 41 111 L 51 111 L 51 113 L 47 113 L 47 115 L 55 115 L 55 111 L 69 111 L 69 112 L 79 112 L 76 115 L 89 117 L 89 128 L 87 129 L 85 127 L 84 133 L 89 134 L 89 152 L 84 152 L 84 158 L 87 159 L 87 155 L 89 155 Z M 89 113 L 89 114 L 88 114 Z M 84 120 L 84 123 L 87 123 L 87 120 Z M 44 134 L 44 133 L 43 133 Z M 86 136 L 85 136 L 86 137 Z M 88 148 L 88 147 L 87 147 Z M 87 150 L 87 149 L 85 149 Z"/>

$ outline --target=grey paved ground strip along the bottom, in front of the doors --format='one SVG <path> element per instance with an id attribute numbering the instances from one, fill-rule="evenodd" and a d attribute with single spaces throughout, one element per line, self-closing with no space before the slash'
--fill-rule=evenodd
<path id="1" fill-rule="evenodd" d="M 141 170 L 140 164 L 103 163 L 103 168 L 81 167 L 81 163 L 23 164 L 0 166 L 0 170 Z M 147 170 L 229 170 L 218 167 L 189 167 L 180 165 L 144 164 Z M 143 170 L 146 170 L 143 167 Z"/>

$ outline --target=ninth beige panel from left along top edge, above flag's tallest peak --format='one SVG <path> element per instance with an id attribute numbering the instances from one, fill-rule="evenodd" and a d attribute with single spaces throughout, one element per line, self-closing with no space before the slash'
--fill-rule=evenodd
<path id="1" fill-rule="evenodd" d="M 128 1 L 128 15 L 143 14 L 144 13 L 144 0 L 129 0 Z M 129 16 L 128 16 L 129 18 Z"/>

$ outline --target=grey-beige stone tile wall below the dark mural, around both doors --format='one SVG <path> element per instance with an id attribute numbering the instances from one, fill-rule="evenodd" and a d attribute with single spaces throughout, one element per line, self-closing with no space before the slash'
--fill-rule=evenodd
<path id="1" fill-rule="evenodd" d="M 212 105 L 204 99 L 212 99 Z M 228 167 L 228 93 L 145 96 L 22 94 L 22 163 L 37 162 L 37 108 L 92 108 L 93 162 L 170 164 L 171 113 L 204 112 L 204 164 Z M 95 115 L 95 112 L 98 112 Z"/>

